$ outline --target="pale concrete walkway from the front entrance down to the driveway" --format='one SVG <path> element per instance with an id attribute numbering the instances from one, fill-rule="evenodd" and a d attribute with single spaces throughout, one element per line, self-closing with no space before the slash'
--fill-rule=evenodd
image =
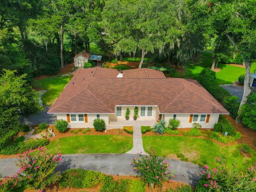
<path id="1" fill-rule="evenodd" d="M 138 154 L 148 155 L 143 148 L 141 126 L 140 124 L 133 124 L 133 147 L 127 154 Z"/>

